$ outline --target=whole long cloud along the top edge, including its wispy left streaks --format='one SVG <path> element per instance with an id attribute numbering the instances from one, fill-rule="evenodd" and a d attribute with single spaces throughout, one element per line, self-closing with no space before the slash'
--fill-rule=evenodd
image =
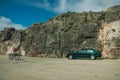
<path id="1" fill-rule="evenodd" d="M 67 11 L 102 11 L 110 6 L 120 5 L 120 0 L 23 0 L 25 4 L 44 8 L 57 13 Z M 52 5 L 54 4 L 54 6 Z"/>

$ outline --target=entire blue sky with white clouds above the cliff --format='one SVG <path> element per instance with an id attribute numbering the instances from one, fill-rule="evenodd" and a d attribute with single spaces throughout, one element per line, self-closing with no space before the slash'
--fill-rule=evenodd
<path id="1" fill-rule="evenodd" d="M 0 30 L 24 30 L 68 11 L 105 11 L 120 0 L 0 0 Z"/>

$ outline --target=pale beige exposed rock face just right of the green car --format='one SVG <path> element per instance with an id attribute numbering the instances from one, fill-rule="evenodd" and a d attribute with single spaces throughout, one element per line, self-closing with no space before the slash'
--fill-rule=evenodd
<path id="1" fill-rule="evenodd" d="M 104 23 L 100 29 L 99 39 L 103 45 L 103 57 L 120 57 L 120 20 Z"/>

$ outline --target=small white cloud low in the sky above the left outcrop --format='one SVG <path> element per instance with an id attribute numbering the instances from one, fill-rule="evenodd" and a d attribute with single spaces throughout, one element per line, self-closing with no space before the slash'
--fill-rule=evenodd
<path id="1" fill-rule="evenodd" d="M 0 17 L 0 30 L 3 30 L 5 27 L 14 27 L 16 30 L 24 30 L 26 27 L 22 26 L 21 24 L 13 23 L 9 18 L 4 16 Z"/>

